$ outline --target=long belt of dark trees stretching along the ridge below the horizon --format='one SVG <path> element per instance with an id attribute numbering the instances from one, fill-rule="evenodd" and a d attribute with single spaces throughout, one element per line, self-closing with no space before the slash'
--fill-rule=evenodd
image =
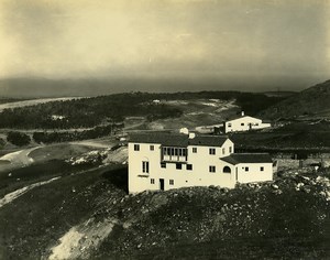
<path id="1" fill-rule="evenodd" d="M 116 94 L 94 98 L 52 101 L 29 107 L 3 109 L 0 112 L 0 128 L 11 129 L 70 129 L 91 128 L 100 123 L 122 122 L 125 117 L 146 117 L 148 121 L 175 118 L 182 110 L 153 100 L 221 99 L 237 100 L 248 113 L 283 100 L 263 94 L 239 91 L 201 91 L 176 94 Z"/>

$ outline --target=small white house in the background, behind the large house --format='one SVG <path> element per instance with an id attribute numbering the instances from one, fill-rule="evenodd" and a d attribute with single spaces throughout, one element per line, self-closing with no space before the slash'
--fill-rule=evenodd
<path id="1" fill-rule="evenodd" d="M 238 132 L 238 131 L 249 131 L 249 130 L 257 130 L 263 128 L 272 127 L 271 123 L 263 122 L 258 118 L 245 116 L 244 112 L 241 113 L 240 117 L 233 118 L 231 120 L 227 120 L 223 123 L 224 132 Z"/>

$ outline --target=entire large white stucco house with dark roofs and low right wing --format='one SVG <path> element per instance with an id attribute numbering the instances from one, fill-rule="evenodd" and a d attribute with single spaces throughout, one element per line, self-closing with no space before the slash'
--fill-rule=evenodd
<path id="1" fill-rule="evenodd" d="M 136 133 L 129 141 L 129 192 L 187 186 L 233 188 L 273 180 L 268 154 L 234 153 L 228 137 Z"/>

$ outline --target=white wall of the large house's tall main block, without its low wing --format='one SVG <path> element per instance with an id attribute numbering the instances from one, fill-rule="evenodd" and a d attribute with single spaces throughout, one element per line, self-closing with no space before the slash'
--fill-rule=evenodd
<path id="1" fill-rule="evenodd" d="M 235 175 L 222 172 L 222 161 L 219 158 L 228 156 L 229 147 L 234 150 L 233 142 L 227 140 L 221 148 L 219 147 L 200 147 L 189 145 L 188 161 L 183 163 L 182 170 L 176 169 L 175 162 L 167 162 L 166 169 L 161 167 L 161 144 L 156 143 L 139 143 L 140 151 L 134 151 L 134 144 L 129 143 L 129 192 L 139 193 L 146 189 L 156 191 L 161 188 L 160 180 L 164 180 L 164 189 L 188 187 L 188 186 L 222 186 L 234 187 Z M 154 151 L 150 151 L 150 145 L 154 145 Z M 193 148 L 197 148 L 197 153 L 193 153 Z M 216 154 L 209 154 L 209 149 L 215 148 Z M 224 154 L 222 153 L 224 148 Z M 142 161 L 150 162 L 150 171 L 142 172 Z M 193 164 L 193 171 L 187 170 L 187 164 Z M 216 172 L 209 172 L 209 166 L 216 166 Z M 154 184 L 151 183 L 154 178 Z M 174 181 L 174 185 L 169 185 L 169 180 Z"/>

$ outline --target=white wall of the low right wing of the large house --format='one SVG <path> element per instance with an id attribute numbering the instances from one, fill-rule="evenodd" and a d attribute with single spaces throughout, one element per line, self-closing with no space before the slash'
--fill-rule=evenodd
<path id="1" fill-rule="evenodd" d="M 261 171 L 262 166 L 264 171 Z M 245 167 L 249 167 L 248 172 Z M 235 165 L 235 172 L 239 183 L 273 181 L 273 163 L 240 163 Z"/>

